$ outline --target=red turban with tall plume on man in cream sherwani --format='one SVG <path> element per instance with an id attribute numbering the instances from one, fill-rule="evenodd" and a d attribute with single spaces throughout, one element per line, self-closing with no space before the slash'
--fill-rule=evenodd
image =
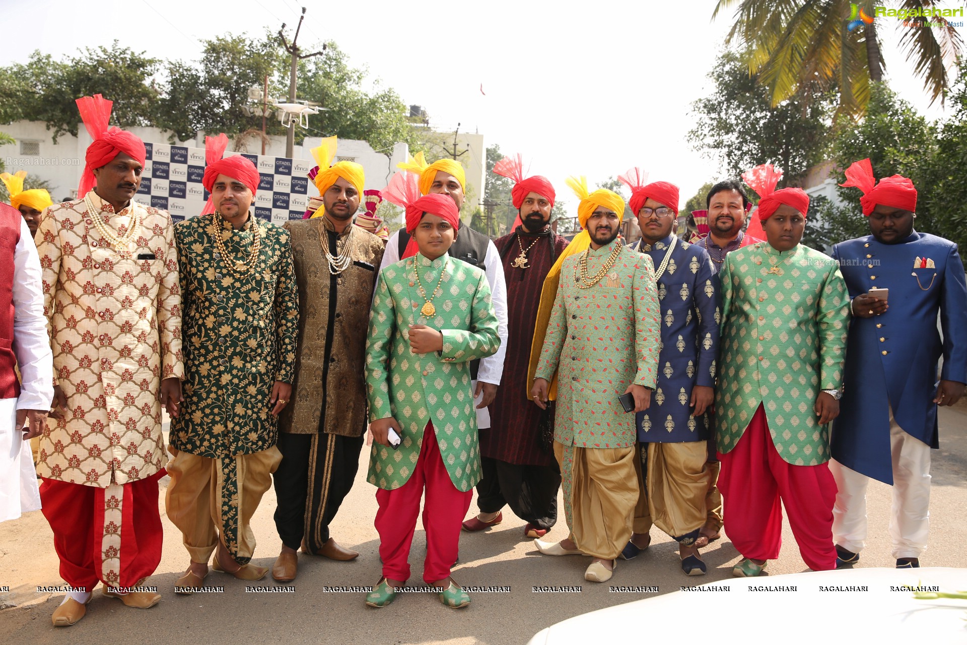
<path id="1" fill-rule="evenodd" d="M 144 141 L 131 132 L 120 128 L 108 128 L 113 101 L 107 101 L 100 94 L 95 94 L 93 97 L 81 97 L 75 103 L 80 111 L 80 120 L 84 122 L 84 128 L 94 139 L 94 142 L 87 146 L 87 153 L 84 155 L 84 172 L 80 175 L 80 185 L 77 187 L 77 197 L 83 198 L 97 183 L 94 178 L 95 169 L 103 168 L 114 161 L 120 153 L 128 155 L 143 166 L 147 151 L 144 149 Z"/>

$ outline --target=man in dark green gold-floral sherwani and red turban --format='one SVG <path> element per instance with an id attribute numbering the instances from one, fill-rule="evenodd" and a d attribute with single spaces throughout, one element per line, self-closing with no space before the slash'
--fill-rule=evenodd
<path id="1" fill-rule="evenodd" d="M 220 156 L 206 155 L 212 208 L 175 226 L 186 376 L 165 502 L 191 559 L 175 583 L 183 594 L 201 585 L 216 550 L 216 571 L 246 580 L 268 572 L 249 564 L 249 520 L 281 459 L 277 417 L 292 392 L 299 324 L 288 232 L 249 215 L 251 161 Z"/>

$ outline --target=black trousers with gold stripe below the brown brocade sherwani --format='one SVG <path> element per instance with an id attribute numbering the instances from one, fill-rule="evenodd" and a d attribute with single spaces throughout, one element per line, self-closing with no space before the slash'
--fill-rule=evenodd
<path id="1" fill-rule="evenodd" d="M 329 540 L 329 523 L 356 479 L 363 441 L 363 436 L 324 432 L 278 433 L 282 461 L 273 479 L 276 530 L 283 544 L 298 549 L 305 538 L 314 554 Z"/>

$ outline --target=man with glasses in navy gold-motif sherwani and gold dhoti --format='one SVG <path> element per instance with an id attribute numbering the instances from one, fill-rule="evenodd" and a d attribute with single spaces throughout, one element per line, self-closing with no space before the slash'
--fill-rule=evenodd
<path id="1" fill-rule="evenodd" d="M 706 409 L 711 411 L 715 396 L 718 277 L 706 249 L 672 232 L 678 187 L 668 182 L 640 186 L 641 176 L 633 169 L 621 179 L 631 188 L 631 211 L 641 228 L 641 240 L 631 249 L 650 255 L 655 265 L 661 350 L 652 406 L 635 420 L 640 495 L 622 557 L 630 560 L 648 547 L 654 523 L 679 543 L 682 571 L 701 575 L 706 566 L 695 541 L 707 515 Z"/>

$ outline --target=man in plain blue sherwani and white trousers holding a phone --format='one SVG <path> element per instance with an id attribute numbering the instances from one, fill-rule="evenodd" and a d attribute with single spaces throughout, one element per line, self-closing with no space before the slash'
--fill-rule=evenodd
<path id="1" fill-rule="evenodd" d="M 875 184 L 868 159 L 853 163 L 846 177 L 843 186 L 864 191 L 860 203 L 872 235 L 833 249 L 854 316 L 831 446 L 836 555 L 840 564 L 860 559 L 872 478 L 894 486 L 896 567 L 916 568 L 929 531 L 937 406 L 956 403 L 967 383 L 967 284 L 957 246 L 914 231 L 917 190 L 909 179 L 894 175 Z"/>

